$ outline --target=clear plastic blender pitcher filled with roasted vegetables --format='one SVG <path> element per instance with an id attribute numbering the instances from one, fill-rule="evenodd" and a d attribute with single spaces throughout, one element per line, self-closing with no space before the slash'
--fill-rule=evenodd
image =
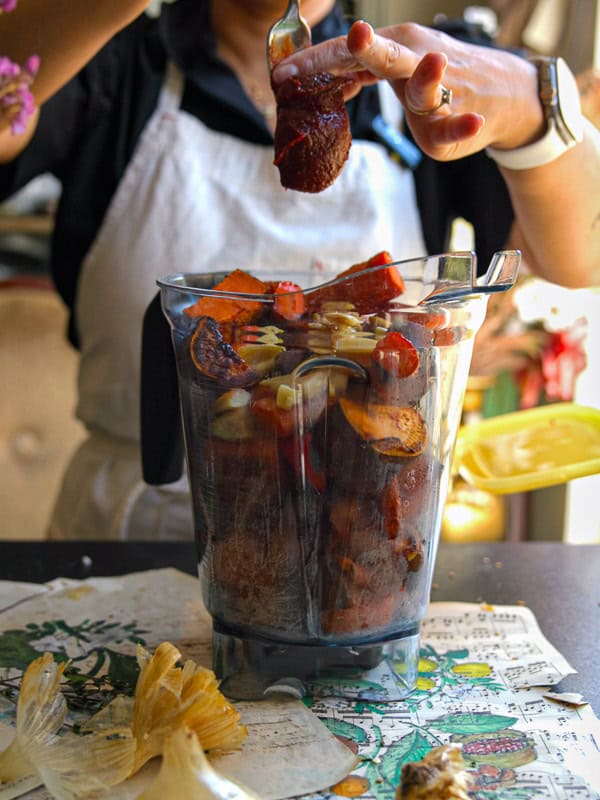
<path id="1" fill-rule="evenodd" d="M 439 255 L 291 293 L 159 281 L 226 694 L 318 693 L 384 662 L 394 697 L 414 688 L 473 337 L 518 261 L 478 282 L 473 254 Z"/>

